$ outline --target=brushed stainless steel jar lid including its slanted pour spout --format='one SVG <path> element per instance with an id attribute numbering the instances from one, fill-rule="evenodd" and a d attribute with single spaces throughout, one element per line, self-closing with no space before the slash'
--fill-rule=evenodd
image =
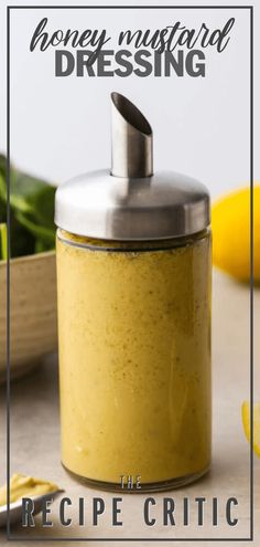
<path id="1" fill-rule="evenodd" d="M 126 97 L 112 93 L 112 167 L 59 186 L 55 223 L 77 235 L 140 241 L 180 238 L 209 224 L 209 194 L 197 180 L 153 173 L 152 129 Z"/>

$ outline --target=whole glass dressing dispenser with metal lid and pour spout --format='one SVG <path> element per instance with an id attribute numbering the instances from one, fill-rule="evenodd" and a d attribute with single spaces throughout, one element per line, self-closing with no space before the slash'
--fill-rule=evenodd
<path id="1" fill-rule="evenodd" d="M 209 197 L 153 175 L 148 122 L 112 107 L 111 172 L 56 192 L 62 462 L 97 487 L 165 490 L 210 465 Z"/>

